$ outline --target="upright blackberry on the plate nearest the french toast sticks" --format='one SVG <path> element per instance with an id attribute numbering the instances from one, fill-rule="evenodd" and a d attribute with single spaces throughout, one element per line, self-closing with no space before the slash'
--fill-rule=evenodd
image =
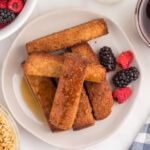
<path id="1" fill-rule="evenodd" d="M 116 58 L 110 47 L 104 46 L 99 52 L 99 61 L 101 65 L 106 68 L 106 71 L 113 71 L 116 69 Z"/>

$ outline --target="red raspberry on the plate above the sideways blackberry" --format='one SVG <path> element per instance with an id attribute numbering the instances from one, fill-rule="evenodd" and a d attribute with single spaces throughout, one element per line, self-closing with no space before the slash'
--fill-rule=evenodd
<path id="1" fill-rule="evenodd" d="M 118 57 L 117 57 L 117 64 L 123 68 L 123 69 L 127 69 L 131 62 L 133 60 L 133 54 L 130 51 L 126 51 L 121 53 Z"/>

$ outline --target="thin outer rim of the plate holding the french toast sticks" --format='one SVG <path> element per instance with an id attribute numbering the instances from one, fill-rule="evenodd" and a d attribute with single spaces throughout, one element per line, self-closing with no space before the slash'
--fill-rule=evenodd
<path id="1" fill-rule="evenodd" d="M 120 27 L 120 25 L 119 24 L 117 24 L 112 18 L 110 18 L 110 17 L 108 17 L 107 15 L 105 15 L 103 12 L 99 12 L 99 13 L 97 13 L 97 12 L 94 12 L 94 11 L 92 11 L 92 10 L 89 10 L 89 9 L 83 9 L 83 8 L 68 8 L 68 9 L 59 9 L 59 10 L 56 10 L 56 11 L 53 11 L 53 12 L 46 12 L 46 13 L 44 13 L 44 14 L 41 14 L 40 16 L 38 16 L 38 17 L 36 17 L 35 19 L 33 19 L 31 22 L 29 22 L 23 29 L 22 29 L 22 31 L 21 32 L 19 32 L 19 34 L 16 36 L 16 38 L 15 38 L 15 40 L 14 41 L 16 41 L 20 36 L 21 36 L 21 34 L 22 34 L 22 32 L 26 29 L 26 28 L 28 28 L 28 26 L 30 26 L 31 24 L 33 24 L 34 22 L 36 22 L 37 20 L 40 20 L 42 17 L 45 17 L 45 16 L 47 16 L 47 15 L 53 15 L 53 14 L 55 14 L 55 13 L 64 13 L 64 12 L 66 12 L 66 11 L 81 11 L 81 12 L 87 12 L 87 13 L 92 13 L 92 14 L 95 14 L 95 15 L 101 15 L 103 18 L 107 18 L 108 20 L 110 20 L 113 24 L 115 24 L 115 26 L 121 31 L 121 33 L 122 33 L 122 35 L 125 37 L 125 39 L 127 40 L 127 42 L 129 43 L 129 45 L 130 45 L 130 47 L 132 48 L 132 51 L 134 52 L 134 57 L 135 57 L 135 59 L 136 60 L 138 60 L 137 59 L 137 55 L 136 55 L 136 53 L 135 53 L 135 48 L 133 47 L 133 45 L 132 45 L 132 43 L 129 41 L 129 38 L 128 38 L 128 36 L 126 35 L 126 33 L 123 31 L 123 29 Z M 11 107 L 9 106 L 9 103 L 8 103 L 8 101 L 6 100 L 6 93 L 4 92 L 4 70 L 5 70 L 5 68 L 6 68 L 6 63 L 7 63 L 7 59 L 8 59 L 8 56 L 9 56 L 9 53 L 11 52 L 11 47 L 13 46 L 13 44 L 14 44 L 15 42 L 13 42 L 12 44 L 11 44 L 11 46 L 10 46 L 10 48 L 9 48 L 9 50 L 8 50 L 8 52 L 7 52 L 7 55 L 6 55 L 6 57 L 5 57 L 5 60 L 4 60 L 4 63 L 3 63 L 3 66 L 2 66 L 2 76 L 1 76 L 1 88 L 2 88 L 2 94 L 3 94 L 3 96 L 4 96 L 4 100 L 5 100 L 5 102 L 6 102 L 6 104 L 7 104 L 7 106 L 8 106 L 8 109 L 10 110 L 10 112 L 12 113 L 12 115 L 14 116 L 14 118 L 15 118 L 15 120 L 26 130 L 26 131 L 28 131 L 29 133 L 31 133 L 32 135 L 34 135 L 36 138 L 38 138 L 38 139 L 40 139 L 40 140 L 42 140 L 42 141 L 44 141 L 44 142 L 46 142 L 46 143 L 48 143 L 48 144 L 50 144 L 50 145 L 52 145 L 52 146 L 55 146 L 55 147 L 58 147 L 58 148 L 62 148 L 62 149 L 77 149 L 77 148 L 85 148 L 85 147 L 88 147 L 88 146 L 91 146 L 91 145 L 94 145 L 94 144 L 97 144 L 97 143 L 100 143 L 100 142 L 102 142 L 103 140 L 105 140 L 106 138 L 108 138 L 108 137 L 110 137 L 114 132 L 116 132 L 120 127 L 121 127 L 121 125 L 125 122 L 125 120 L 126 120 L 126 118 L 129 116 L 129 114 L 131 113 L 131 110 L 133 109 L 133 106 L 135 106 L 135 103 L 137 102 L 137 101 L 134 101 L 134 103 L 132 104 L 132 106 L 130 107 L 130 109 L 128 110 L 128 113 L 125 115 L 125 117 L 122 119 L 122 121 L 116 126 L 116 127 L 114 127 L 114 129 L 109 133 L 109 134 L 107 134 L 106 136 L 104 136 L 103 138 L 101 138 L 101 139 L 97 139 L 97 140 L 95 140 L 95 141 L 93 141 L 93 142 L 90 142 L 90 143 L 88 143 L 88 144 L 84 144 L 84 145 L 80 145 L 80 146 L 67 146 L 67 147 L 65 147 L 65 146 L 60 146 L 60 145 L 57 145 L 57 144 L 53 144 L 53 143 L 51 143 L 51 142 L 47 142 L 45 139 L 42 139 L 42 138 L 40 138 L 40 137 L 38 137 L 35 133 L 33 133 L 30 129 L 28 129 L 28 128 L 26 128 L 19 120 L 18 120 L 18 118 L 16 118 L 15 117 L 15 115 L 14 115 L 14 113 L 13 113 L 13 110 L 11 109 Z M 140 64 L 139 64 L 139 62 L 138 61 L 136 61 L 136 63 L 137 63 L 137 66 L 138 66 L 138 68 L 139 68 L 139 70 L 140 70 L 140 78 L 138 79 L 139 80 L 139 87 L 138 87 L 138 89 L 137 89 L 137 93 L 139 93 L 139 91 L 140 91 L 140 88 L 141 88 L 141 82 L 142 82 L 142 72 L 141 72 L 141 66 L 140 66 Z M 136 95 L 136 99 L 138 99 L 138 95 L 139 94 L 137 94 Z"/>

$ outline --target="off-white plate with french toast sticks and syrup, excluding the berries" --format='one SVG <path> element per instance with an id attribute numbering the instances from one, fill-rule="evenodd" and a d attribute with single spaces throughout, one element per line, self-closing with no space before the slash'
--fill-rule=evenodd
<path id="1" fill-rule="evenodd" d="M 65 149 L 98 143 L 116 131 L 137 101 L 141 75 L 130 85 L 128 101 L 118 104 L 112 78 L 119 67 L 108 72 L 112 64 L 100 64 L 102 47 L 111 47 L 115 56 L 130 50 L 140 70 L 125 33 L 101 13 L 66 9 L 26 25 L 2 70 L 3 95 L 18 123 Z"/>

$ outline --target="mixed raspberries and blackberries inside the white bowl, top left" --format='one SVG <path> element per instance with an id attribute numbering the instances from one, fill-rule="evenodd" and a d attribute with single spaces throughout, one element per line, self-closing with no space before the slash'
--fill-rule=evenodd
<path id="1" fill-rule="evenodd" d="M 23 0 L 0 0 L 0 29 L 12 22 L 23 6 Z"/>

